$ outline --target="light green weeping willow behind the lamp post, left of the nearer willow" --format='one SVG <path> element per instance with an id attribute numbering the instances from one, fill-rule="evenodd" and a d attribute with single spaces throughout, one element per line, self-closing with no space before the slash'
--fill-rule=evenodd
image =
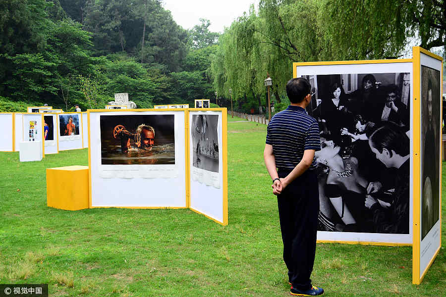
<path id="1" fill-rule="evenodd" d="M 280 101 L 286 82 L 292 78 L 292 62 L 316 60 L 321 51 L 316 28 L 317 1 L 262 0 L 259 11 L 251 7 L 234 21 L 220 39 L 223 75 L 216 89 L 233 90 L 235 98 L 252 94 L 261 104 L 267 73 L 273 79 L 273 94 Z M 215 61 L 214 65 L 221 63 Z M 222 65 L 222 66 L 223 66 Z M 213 69 L 218 73 L 220 69 Z M 225 91 L 226 90 L 226 91 Z M 221 91 L 218 91 L 219 94 Z"/>

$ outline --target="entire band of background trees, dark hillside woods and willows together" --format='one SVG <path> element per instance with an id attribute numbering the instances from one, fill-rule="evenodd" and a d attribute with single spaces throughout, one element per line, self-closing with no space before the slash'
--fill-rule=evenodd
<path id="1" fill-rule="evenodd" d="M 410 56 L 408 44 L 445 52 L 444 0 L 259 0 L 222 36 L 207 19 L 181 28 L 162 4 L 0 0 L 2 102 L 85 110 L 124 92 L 138 107 L 232 97 L 258 113 L 267 73 L 276 110 L 286 106 L 292 62 Z"/>

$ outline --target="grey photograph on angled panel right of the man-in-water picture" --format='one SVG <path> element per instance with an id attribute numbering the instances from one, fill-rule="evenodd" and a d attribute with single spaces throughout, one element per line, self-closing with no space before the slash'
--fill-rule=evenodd
<path id="1" fill-rule="evenodd" d="M 197 114 L 192 116 L 192 166 L 219 172 L 219 116 Z"/>

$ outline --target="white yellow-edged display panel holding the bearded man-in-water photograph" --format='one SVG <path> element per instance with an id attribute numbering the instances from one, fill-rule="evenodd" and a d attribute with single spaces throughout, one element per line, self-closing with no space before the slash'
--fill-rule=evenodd
<path id="1" fill-rule="evenodd" d="M 163 207 L 186 207 L 186 155 L 185 155 L 185 111 L 88 111 L 90 127 L 90 168 L 91 168 L 91 207 L 135 207 L 135 208 L 163 208 Z M 139 119 L 158 119 L 157 116 L 164 116 L 171 120 L 171 133 L 164 131 L 160 123 L 145 122 Z M 101 119 L 101 117 L 103 117 Z M 101 120 L 103 128 L 101 129 Z M 136 123 L 137 122 L 137 123 Z M 135 124 L 136 123 L 136 124 Z M 170 122 L 169 122 L 170 123 Z M 125 131 L 137 133 L 137 127 L 140 124 L 146 124 L 153 127 L 155 131 L 153 139 L 153 148 L 139 149 L 130 148 L 128 152 L 124 145 L 120 145 L 121 137 L 124 134 L 114 134 L 116 138 L 111 137 L 115 126 L 120 124 Z M 113 127 L 111 127 L 113 126 Z M 101 131 L 103 130 L 103 131 Z M 141 135 L 141 133 L 139 133 Z M 102 140 L 101 140 L 102 137 Z M 167 139 L 174 139 L 174 148 L 171 144 L 165 144 Z M 133 141 L 133 139 L 132 139 Z M 126 141 L 123 141 L 126 143 Z M 143 140 L 141 140 L 141 144 Z M 133 144 L 133 143 L 132 143 Z M 103 148 L 104 146 L 104 148 Z M 107 151 L 109 148 L 116 147 L 116 150 Z M 163 149 L 169 151 L 168 156 L 163 153 Z M 172 151 L 173 150 L 173 151 Z M 151 154 L 153 152 L 153 154 Z M 174 155 L 173 172 L 170 164 L 157 164 L 164 158 L 169 162 Z M 160 157 L 158 157 L 160 156 Z M 163 158 L 161 157 L 163 156 Z M 151 161 L 153 160 L 153 161 Z M 128 164 L 125 164 L 128 162 Z M 153 162 L 153 164 L 149 164 Z M 164 162 L 164 161 L 163 161 Z M 161 163 L 163 163 L 161 162 Z M 103 164 L 104 163 L 104 164 Z M 114 164 L 111 164 L 114 163 Z M 135 164 L 139 163 L 139 164 Z M 124 174 L 127 166 L 130 171 L 130 178 L 102 178 L 101 174 L 106 170 L 113 170 L 111 166 L 117 166 L 116 172 Z M 163 172 L 163 168 L 170 168 Z M 154 172 L 160 172 L 165 177 L 145 178 L 135 177 L 135 172 L 142 173 L 144 176 L 150 174 L 151 169 Z M 168 177 L 170 175 L 170 177 Z M 149 175 L 150 176 L 150 175 Z"/>

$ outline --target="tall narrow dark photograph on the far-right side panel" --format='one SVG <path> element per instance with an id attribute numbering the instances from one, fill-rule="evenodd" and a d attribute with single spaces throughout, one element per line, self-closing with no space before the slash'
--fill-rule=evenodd
<path id="1" fill-rule="evenodd" d="M 421 240 L 440 216 L 440 71 L 421 65 Z"/>

